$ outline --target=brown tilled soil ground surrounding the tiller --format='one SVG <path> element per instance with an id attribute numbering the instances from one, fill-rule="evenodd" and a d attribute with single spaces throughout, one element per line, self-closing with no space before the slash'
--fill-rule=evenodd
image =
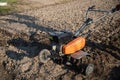
<path id="1" fill-rule="evenodd" d="M 50 2 L 49 2 L 50 1 Z M 91 75 L 79 73 L 80 66 L 66 66 L 58 61 L 42 64 L 41 49 L 49 49 L 47 32 L 74 32 L 84 21 L 91 5 L 110 10 L 119 0 L 23 0 L 20 13 L 0 16 L 1 80 L 119 80 L 120 79 L 120 12 L 90 26 L 84 51 L 91 53 L 80 63 L 94 63 Z M 99 13 L 91 15 L 96 18 Z M 78 68 L 76 68 L 78 67 Z"/>

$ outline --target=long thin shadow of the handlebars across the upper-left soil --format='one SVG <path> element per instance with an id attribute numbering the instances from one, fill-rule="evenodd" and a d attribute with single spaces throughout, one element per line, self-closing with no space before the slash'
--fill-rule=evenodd
<path id="1" fill-rule="evenodd" d="M 36 24 L 36 21 L 38 19 L 33 16 L 19 14 L 19 13 L 11 14 L 11 16 L 15 18 L 4 19 L 4 21 L 8 21 L 9 23 L 25 24 L 27 27 L 35 28 L 36 30 L 41 30 L 46 33 L 55 31 L 55 29 L 53 28 L 50 28 L 50 27 L 48 28 L 48 27 L 44 27 L 39 24 Z"/>

